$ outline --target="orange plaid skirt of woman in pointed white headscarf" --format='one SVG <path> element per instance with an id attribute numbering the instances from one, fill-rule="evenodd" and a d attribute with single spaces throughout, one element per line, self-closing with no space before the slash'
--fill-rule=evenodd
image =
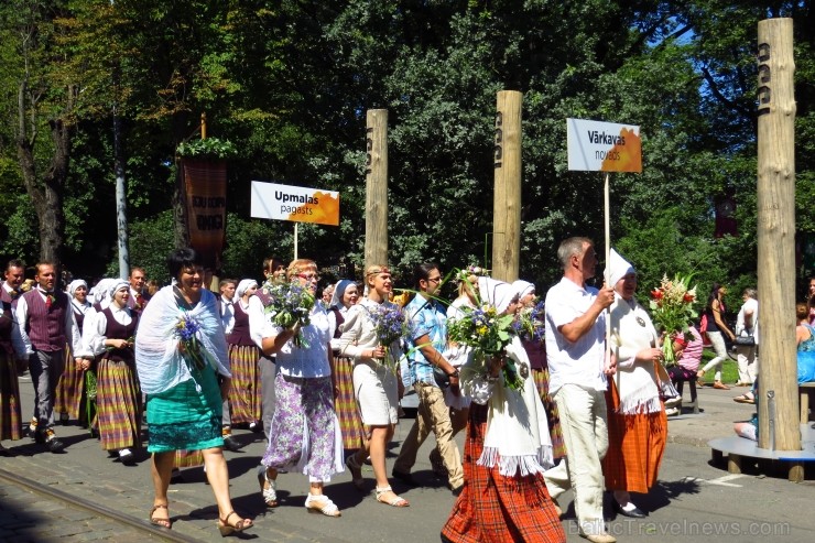
<path id="1" fill-rule="evenodd" d="M 667 441 L 665 410 L 658 413 L 623 415 L 617 412 L 620 398 L 617 383 L 609 379 L 608 453 L 602 459 L 602 475 L 608 490 L 646 493 L 656 484 Z"/>

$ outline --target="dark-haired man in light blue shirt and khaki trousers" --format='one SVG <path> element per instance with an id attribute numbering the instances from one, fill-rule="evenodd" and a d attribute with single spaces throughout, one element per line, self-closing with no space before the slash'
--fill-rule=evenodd
<path id="1" fill-rule="evenodd" d="M 405 312 L 412 327 L 412 348 L 408 361 L 413 388 L 419 397 L 419 412 L 393 465 L 393 477 L 413 484 L 411 468 L 416 463 L 419 447 L 432 431 L 447 468 L 450 489 L 458 496 L 464 487 L 461 457 L 453 441 L 453 423 L 444 401 L 444 391 L 433 377 L 433 367 L 436 366 L 449 376 L 454 393 L 460 393 L 458 371 L 442 355 L 447 345 L 447 317 L 445 308 L 434 298 L 442 283 L 442 272 L 435 263 L 419 264 L 413 270 L 413 280 L 419 293 L 405 306 Z"/>

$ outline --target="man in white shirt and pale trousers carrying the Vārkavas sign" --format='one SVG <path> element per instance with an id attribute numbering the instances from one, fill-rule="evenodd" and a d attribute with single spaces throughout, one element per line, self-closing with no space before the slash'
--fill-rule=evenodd
<path id="1" fill-rule="evenodd" d="M 563 241 L 557 258 L 563 279 L 546 293 L 546 354 L 550 393 L 557 403 L 568 459 L 547 470 L 544 479 L 554 500 L 574 490 L 582 536 L 613 543 L 604 524 L 600 460 L 608 450 L 606 376 L 615 371 L 615 361 L 606 361 L 605 309 L 613 303 L 615 291 L 586 285 L 597 267 L 591 240 Z"/>

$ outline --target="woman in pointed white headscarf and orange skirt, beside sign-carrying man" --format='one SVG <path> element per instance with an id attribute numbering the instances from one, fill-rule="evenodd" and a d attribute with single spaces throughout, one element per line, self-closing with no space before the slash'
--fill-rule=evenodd
<path id="1" fill-rule="evenodd" d="M 634 298 L 637 271 L 613 249 L 607 276 L 616 293 L 610 311 L 617 376 L 606 391 L 608 453 L 602 474 L 617 512 L 640 519 L 645 513 L 631 502 L 630 492 L 646 493 L 654 486 L 667 438 L 656 377 L 663 355 L 651 317 Z"/>

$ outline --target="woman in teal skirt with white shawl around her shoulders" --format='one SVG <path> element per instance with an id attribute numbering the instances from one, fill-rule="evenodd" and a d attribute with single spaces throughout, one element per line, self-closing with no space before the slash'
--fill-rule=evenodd
<path id="1" fill-rule="evenodd" d="M 175 450 L 200 449 L 218 506 L 221 535 L 252 526 L 232 509 L 224 458 L 221 402 L 231 374 L 215 295 L 203 287 L 204 267 L 192 249 L 167 259 L 176 283 L 144 308 L 135 336 L 135 366 L 148 397 L 148 425 L 155 491 L 150 522 L 171 528 L 167 488 Z M 221 376 L 219 388 L 217 374 Z"/>

